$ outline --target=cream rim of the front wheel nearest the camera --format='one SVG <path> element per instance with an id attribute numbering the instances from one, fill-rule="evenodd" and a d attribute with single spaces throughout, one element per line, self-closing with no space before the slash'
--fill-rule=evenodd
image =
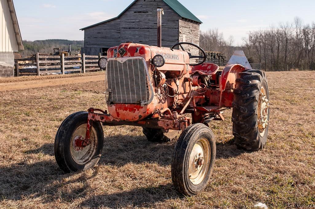
<path id="1" fill-rule="evenodd" d="M 200 184 L 210 166 L 211 149 L 206 138 L 201 138 L 192 148 L 189 157 L 188 175 L 194 185 Z"/>

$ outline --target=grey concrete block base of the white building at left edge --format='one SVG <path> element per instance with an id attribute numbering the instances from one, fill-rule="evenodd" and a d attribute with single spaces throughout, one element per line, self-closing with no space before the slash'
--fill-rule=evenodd
<path id="1" fill-rule="evenodd" d="M 0 77 L 14 76 L 14 52 L 0 52 Z"/>

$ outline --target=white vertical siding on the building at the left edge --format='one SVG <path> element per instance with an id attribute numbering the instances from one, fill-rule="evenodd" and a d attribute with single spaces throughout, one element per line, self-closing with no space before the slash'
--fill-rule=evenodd
<path id="1" fill-rule="evenodd" d="M 7 0 L 0 0 L 0 52 L 18 52 L 13 22 Z"/>

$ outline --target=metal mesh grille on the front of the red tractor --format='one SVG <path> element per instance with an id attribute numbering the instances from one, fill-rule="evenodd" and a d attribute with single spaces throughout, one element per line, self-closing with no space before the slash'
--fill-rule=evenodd
<path id="1" fill-rule="evenodd" d="M 108 103 L 147 104 L 152 88 L 142 58 L 124 58 L 121 63 L 109 59 L 106 69 L 106 100 Z"/>

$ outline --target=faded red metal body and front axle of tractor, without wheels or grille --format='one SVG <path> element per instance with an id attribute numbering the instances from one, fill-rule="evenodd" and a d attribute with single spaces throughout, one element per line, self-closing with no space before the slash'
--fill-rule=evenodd
<path id="1" fill-rule="evenodd" d="M 118 53 L 121 49 L 124 53 Z M 165 58 L 165 64 L 159 68 L 151 63 L 151 59 L 157 54 Z M 245 69 L 240 64 L 228 65 L 220 76 L 219 67 L 215 64 L 203 63 L 199 66 L 189 66 L 187 52 L 135 43 L 124 43 L 108 50 L 109 61 L 117 60 L 123 63 L 134 58 L 143 59 L 148 76 L 146 82 L 152 87 L 152 99 L 139 104 L 107 101 L 108 114 L 107 111 L 100 109 L 89 109 L 87 133 L 82 142 L 84 146 L 89 143 L 92 121 L 104 125 L 133 125 L 161 128 L 167 131 L 184 130 L 192 122 L 224 120 L 222 111 L 232 108 L 234 99 L 232 89 L 235 88 L 238 74 Z M 128 65 L 128 69 L 114 69 L 115 73 L 118 75 L 122 75 L 121 71 L 132 73 L 129 66 L 131 65 Z M 128 74 L 125 75 L 123 86 L 128 88 L 129 77 Z M 212 83 L 206 85 L 203 76 L 207 76 Z M 119 76 L 111 77 L 112 82 L 115 82 L 116 77 Z M 122 82 L 118 84 L 121 85 Z M 127 94 L 125 96 L 128 97 Z M 132 93 L 129 97 L 131 96 Z M 101 113 L 95 113 L 95 111 Z M 185 116 L 186 113 L 192 113 L 192 122 Z M 78 141 L 78 144 L 81 144 L 81 141 Z"/>

